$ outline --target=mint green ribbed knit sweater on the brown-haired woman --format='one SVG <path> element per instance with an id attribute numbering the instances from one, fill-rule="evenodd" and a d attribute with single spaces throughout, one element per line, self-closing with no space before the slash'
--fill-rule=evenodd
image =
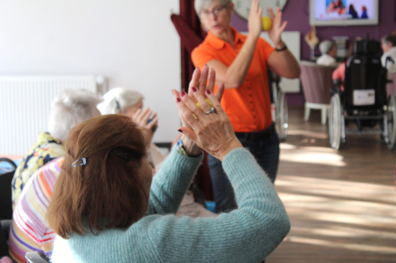
<path id="1" fill-rule="evenodd" d="M 216 218 L 176 217 L 202 159 L 172 150 L 154 176 L 146 216 L 123 229 L 97 235 L 57 237 L 52 263 L 256 263 L 290 230 L 290 221 L 270 180 L 246 149 L 232 150 L 223 168 L 239 209 Z"/>

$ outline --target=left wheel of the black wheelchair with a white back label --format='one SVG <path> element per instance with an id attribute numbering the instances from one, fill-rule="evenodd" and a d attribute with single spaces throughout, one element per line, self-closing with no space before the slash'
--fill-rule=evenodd
<path id="1" fill-rule="evenodd" d="M 335 150 L 340 149 L 342 118 L 340 95 L 334 94 L 330 100 L 329 142 Z"/>

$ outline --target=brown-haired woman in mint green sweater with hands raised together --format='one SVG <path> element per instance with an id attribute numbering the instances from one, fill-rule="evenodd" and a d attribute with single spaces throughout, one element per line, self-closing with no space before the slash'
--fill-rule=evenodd
<path id="1" fill-rule="evenodd" d="M 70 132 L 48 210 L 59 235 L 52 263 L 254 263 L 283 240 L 290 229 L 285 208 L 220 106 L 224 86 L 214 95 L 214 74 L 207 88 L 206 80 L 191 96 L 173 90 L 182 137 L 154 177 L 141 128 L 130 118 L 102 115 Z M 202 150 L 222 161 L 239 209 L 176 217 Z"/>

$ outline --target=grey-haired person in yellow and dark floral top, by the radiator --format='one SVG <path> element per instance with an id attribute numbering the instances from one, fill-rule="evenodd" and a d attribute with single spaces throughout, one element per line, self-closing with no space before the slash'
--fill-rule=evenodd
<path id="1" fill-rule="evenodd" d="M 48 132 L 39 134 L 36 144 L 23 157 L 12 178 L 13 208 L 30 176 L 54 158 L 65 156 L 62 142 L 70 129 L 83 120 L 100 115 L 96 105 L 101 101 L 101 96 L 85 89 L 65 89 L 53 99 Z"/>

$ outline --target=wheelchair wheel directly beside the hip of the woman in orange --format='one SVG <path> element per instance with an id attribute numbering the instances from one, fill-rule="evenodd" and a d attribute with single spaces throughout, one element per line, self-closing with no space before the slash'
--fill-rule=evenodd
<path id="1" fill-rule="evenodd" d="M 288 102 L 285 93 L 279 86 L 279 75 L 268 71 L 269 90 L 271 95 L 271 112 L 279 139 L 284 141 L 288 136 Z M 273 109 L 275 108 L 275 109 Z"/>

